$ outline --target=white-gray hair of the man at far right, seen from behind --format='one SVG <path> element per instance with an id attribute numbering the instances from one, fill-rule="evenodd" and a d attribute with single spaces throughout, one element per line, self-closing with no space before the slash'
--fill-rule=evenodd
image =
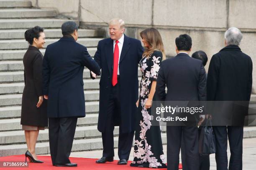
<path id="1" fill-rule="evenodd" d="M 243 34 L 238 28 L 231 27 L 225 32 L 227 45 L 240 45 L 242 39 Z"/>

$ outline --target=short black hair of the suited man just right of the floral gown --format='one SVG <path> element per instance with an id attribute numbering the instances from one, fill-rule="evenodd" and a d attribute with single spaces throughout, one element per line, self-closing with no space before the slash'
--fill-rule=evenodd
<path id="1" fill-rule="evenodd" d="M 179 51 L 180 50 L 189 51 L 190 48 L 192 47 L 192 39 L 189 35 L 182 34 L 175 39 L 175 44 Z"/>

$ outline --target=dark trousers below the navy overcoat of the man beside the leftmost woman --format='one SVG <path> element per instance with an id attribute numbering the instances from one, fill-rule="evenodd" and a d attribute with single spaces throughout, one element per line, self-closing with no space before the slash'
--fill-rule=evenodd
<path id="1" fill-rule="evenodd" d="M 69 155 L 76 126 L 77 117 L 49 118 L 49 143 L 53 165 L 70 163 Z"/>

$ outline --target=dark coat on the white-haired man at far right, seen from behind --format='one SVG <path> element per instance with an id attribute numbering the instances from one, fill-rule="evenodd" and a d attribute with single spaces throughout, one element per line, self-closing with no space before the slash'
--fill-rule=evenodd
<path id="1" fill-rule="evenodd" d="M 236 45 L 224 47 L 212 56 L 207 77 L 207 100 L 223 101 L 218 102 L 212 113 L 217 122 L 226 118 L 232 121 L 228 122 L 230 125 L 243 123 L 248 113 L 247 101 L 251 97 L 252 68 L 251 57 Z"/>

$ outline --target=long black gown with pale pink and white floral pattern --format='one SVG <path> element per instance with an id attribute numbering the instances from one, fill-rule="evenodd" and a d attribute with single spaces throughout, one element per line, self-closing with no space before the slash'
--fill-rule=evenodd
<path id="1" fill-rule="evenodd" d="M 145 103 L 153 81 L 156 81 L 162 61 L 162 52 L 154 51 L 150 57 L 143 57 L 140 61 L 142 71 L 141 90 L 138 114 L 136 115 L 136 132 L 134 144 L 133 167 L 166 168 L 164 160 L 161 131 L 159 126 L 151 126 L 153 117 Z M 154 95 L 153 100 L 156 99 Z"/>

